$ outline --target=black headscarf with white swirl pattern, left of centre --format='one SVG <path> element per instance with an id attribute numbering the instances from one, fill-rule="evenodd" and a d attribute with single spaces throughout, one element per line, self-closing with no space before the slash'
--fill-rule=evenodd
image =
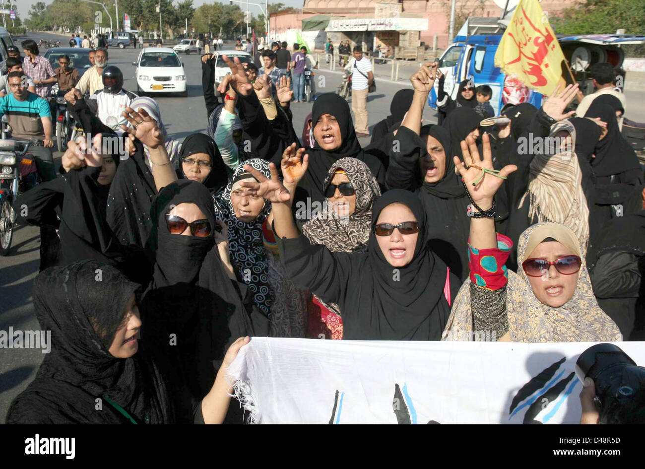
<path id="1" fill-rule="evenodd" d="M 233 267 L 243 282 L 248 284 L 253 294 L 253 303 L 269 316 L 273 304 L 273 292 L 269 284 L 262 224 L 271 212 L 271 204 L 264 201 L 264 208 L 251 223 L 244 223 L 235 216 L 235 210 L 233 210 L 231 203 L 231 191 L 237 181 L 247 179 L 244 177 L 247 172 L 244 165 L 252 166 L 271 179 L 268 161 L 259 158 L 244 161 L 237 166 L 228 185 L 213 195 L 215 215 L 228 227 L 228 250 Z M 248 177 L 252 176 L 248 175 Z"/>

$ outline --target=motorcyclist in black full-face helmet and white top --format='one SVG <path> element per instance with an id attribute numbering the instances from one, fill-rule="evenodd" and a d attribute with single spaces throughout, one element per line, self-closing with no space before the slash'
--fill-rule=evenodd
<path id="1" fill-rule="evenodd" d="M 95 115 L 99 118 L 101 123 L 121 135 L 123 134 L 121 124 L 127 125 L 128 122 L 121 113 L 126 107 L 130 106 L 130 103 L 135 97 L 137 97 L 137 95 L 123 89 L 123 73 L 121 73 L 121 70 L 114 65 L 106 66 L 103 70 L 102 79 L 103 89 L 90 95 L 90 97 L 84 101 L 84 104 L 86 105 L 90 115 Z M 75 94 L 73 104 L 76 104 L 77 101 L 83 101 L 83 97 L 78 90 L 74 89 L 72 92 Z M 82 103 L 80 105 L 75 105 L 75 110 L 77 112 L 83 108 L 84 106 Z M 83 122 L 82 117 L 81 122 Z M 83 128 L 88 132 L 85 123 Z"/>

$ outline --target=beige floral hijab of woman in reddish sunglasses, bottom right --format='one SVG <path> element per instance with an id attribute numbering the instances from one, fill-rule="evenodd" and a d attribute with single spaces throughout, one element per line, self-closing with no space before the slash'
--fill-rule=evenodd
<path id="1" fill-rule="evenodd" d="M 582 259 L 578 284 L 571 299 L 553 308 L 541 303 L 533 294 L 522 263 L 535 247 L 551 237 L 564 244 Z M 517 247 L 519 273 L 508 272 L 506 286 L 506 312 L 510 339 L 513 342 L 598 342 L 622 341 L 618 326 L 598 306 L 591 290 L 582 246 L 575 233 L 559 223 L 538 223 L 520 235 Z M 473 340 L 470 309 L 470 280 L 459 290 L 442 340 Z"/>

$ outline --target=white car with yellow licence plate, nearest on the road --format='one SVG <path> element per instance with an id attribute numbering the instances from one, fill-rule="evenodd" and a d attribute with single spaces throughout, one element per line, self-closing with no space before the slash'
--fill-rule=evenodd
<path id="1" fill-rule="evenodd" d="M 174 50 L 167 47 L 145 47 L 132 65 L 136 67 L 137 94 L 179 93 L 188 96 L 184 64 Z"/>

